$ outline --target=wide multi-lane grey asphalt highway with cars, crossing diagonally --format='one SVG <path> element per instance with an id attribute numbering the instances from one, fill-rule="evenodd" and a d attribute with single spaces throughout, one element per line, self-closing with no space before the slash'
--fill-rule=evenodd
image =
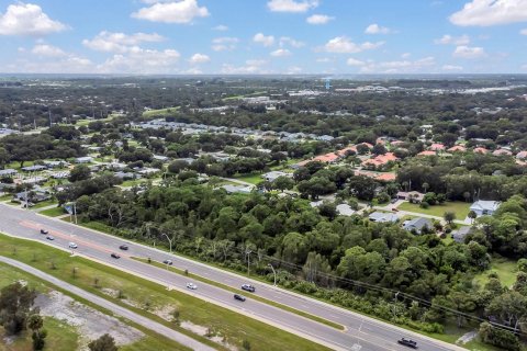
<path id="1" fill-rule="evenodd" d="M 47 240 L 46 235 L 42 235 L 40 229 L 47 229 L 55 240 Z M 117 237 L 37 215 L 32 211 L 1 204 L 0 231 L 21 238 L 41 240 L 63 249 L 68 248 L 68 242 L 75 242 L 78 245 L 78 248 L 74 251 L 87 258 L 97 259 L 98 261 L 133 274 L 155 280 L 172 288 L 187 292 L 199 298 L 237 310 L 253 318 L 309 338 L 334 350 L 408 350 L 408 348 L 397 344 L 396 341 L 401 337 L 412 338 L 417 341 L 419 350 L 464 350 L 455 344 L 413 333 L 383 321 L 291 293 L 270 284 L 251 281 L 242 275 L 225 272 L 200 262 L 169 254 L 168 252 L 135 242 L 127 242 Z M 119 246 L 122 244 L 126 244 L 130 249 L 127 251 L 121 251 Z M 121 259 L 111 258 L 110 254 L 112 252 L 121 254 Z M 345 326 L 346 329 L 344 331 L 337 330 L 296 314 L 251 299 L 250 296 L 253 293 L 243 292 L 243 295 L 247 297 L 247 301 L 244 303 L 235 301 L 231 292 L 199 281 L 192 281 L 183 275 L 152 264 L 138 262 L 131 259 L 131 257 L 149 257 L 152 260 L 159 262 L 169 259 L 173 262 L 173 267 L 178 269 L 187 269 L 193 274 L 236 288 L 239 288 L 242 284 L 250 283 L 256 287 L 255 294 L 261 297 L 340 324 Z M 189 282 L 198 285 L 198 290 L 187 290 L 186 284 Z"/>

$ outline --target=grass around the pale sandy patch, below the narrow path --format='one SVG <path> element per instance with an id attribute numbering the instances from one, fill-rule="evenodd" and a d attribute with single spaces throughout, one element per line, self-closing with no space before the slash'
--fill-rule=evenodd
<path id="1" fill-rule="evenodd" d="M 35 288 L 40 293 L 48 293 L 52 291 L 58 291 L 71 298 L 76 299 L 77 302 L 89 306 L 96 310 L 99 310 L 106 315 L 112 315 L 109 310 L 99 307 L 83 298 L 76 296 L 65 290 L 61 290 L 58 286 L 54 286 L 53 284 L 41 280 L 37 276 L 34 276 L 30 273 L 19 270 L 18 268 L 11 267 L 3 262 L 0 262 L 0 288 L 5 285 L 9 285 L 16 281 L 26 282 L 29 286 Z M 122 346 L 120 350 L 124 351 L 188 351 L 190 349 L 165 338 L 164 336 L 157 335 L 149 329 L 143 328 L 142 326 L 135 325 L 132 321 L 126 320 L 125 318 L 120 318 L 114 316 L 119 320 L 127 324 L 142 332 L 145 333 L 141 340 Z M 79 331 L 74 327 L 68 325 L 63 320 L 58 320 L 56 318 L 45 317 L 44 318 L 44 329 L 48 332 L 46 337 L 46 347 L 44 350 L 54 350 L 54 351 L 71 351 L 77 350 L 79 346 Z M 3 330 L 0 328 L 0 338 L 3 338 Z M 0 351 L 30 351 L 33 350 L 32 347 L 32 339 L 31 332 L 23 332 L 14 342 L 9 346 L 2 346 L 0 343 Z"/>

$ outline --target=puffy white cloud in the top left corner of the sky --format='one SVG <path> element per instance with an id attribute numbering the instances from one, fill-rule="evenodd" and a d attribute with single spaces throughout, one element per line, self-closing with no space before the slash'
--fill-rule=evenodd
<path id="1" fill-rule="evenodd" d="M 40 5 L 33 3 L 10 4 L 5 13 L 0 13 L 0 35 L 44 36 L 66 27 L 63 23 L 49 19 Z"/>

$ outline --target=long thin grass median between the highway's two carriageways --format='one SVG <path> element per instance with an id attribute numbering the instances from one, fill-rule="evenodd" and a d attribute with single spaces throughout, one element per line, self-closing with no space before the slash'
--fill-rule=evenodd
<path id="1" fill-rule="evenodd" d="M 133 257 L 133 259 L 134 259 L 134 260 L 137 260 L 137 261 L 141 261 L 141 262 L 145 262 L 145 263 L 148 262 L 148 260 L 147 260 L 147 259 L 144 259 L 144 258 Z M 235 287 L 232 287 L 232 286 L 228 286 L 228 285 L 218 283 L 218 282 L 216 282 L 216 281 L 212 281 L 212 280 L 210 280 L 210 279 L 203 278 L 203 276 L 201 276 L 201 275 L 197 275 L 197 274 L 192 274 L 192 273 L 186 274 L 183 270 L 177 269 L 177 268 L 171 267 L 171 265 L 168 265 L 168 268 L 167 268 L 167 264 L 164 264 L 164 263 L 160 263 L 160 262 L 150 261 L 149 264 L 153 264 L 153 265 L 158 267 L 158 268 L 168 269 L 168 270 L 171 271 L 171 272 L 175 272 L 175 273 L 178 273 L 178 274 L 181 274 L 181 275 L 186 275 L 186 276 L 188 276 L 188 278 L 194 279 L 194 280 L 197 280 L 197 281 L 203 282 L 203 283 L 209 284 L 209 285 L 217 286 L 217 287 L 220 287 L 220 288 L 226 290 L 226 291 L 232 292 L 232 293 L 236 293 L 236 294 L 245 293 L 247 297 L 253 298 L 253 299 L 255 299 L 255 301 L 258 301 L 258 302 L 260 302 L 260 303 L 264 303 L 264 304 L 267 304 L 267 305 L 270 305 L 270 306 L 278 307 L 278 308 L 280 308 L 280 309 L 283 309 L 283 310 L 293 313 L 293 314 L 295 314 L 295 315 L 305 317 L 305 318 L 311 319 L 311 320 L 315 320 L 315 321 L 322 322 L 323 325 L 329 326 L 329 327 L 335 328 L 335 329 L 338 329 L 338 330 L 344 330 L 344 326 L 341 326 L 341 325 L 339 325 L 339 324 L 337 324 L 337 322 L 333 322 L 333 321 L 330 321 L 330 320 L 321 318 L 321 317 L 318 317 L 318 316 L 314 316 L 314 315 L 312 315 L 312 314 L 307 314 L 307 313 L 305 313 L 305 312 L 302 312 L 302 310 L 299 310 L 299 309 L 289 307 L 289 306 L 287 306 L 287 305 L 282 305 L 282 304 L 276 303 L 276 302 L 273 302 L 273 301 L 270 301 L 270 299 L 260 297 L 260 296 L 258 296 L 258 295 L 255 295 L 255 294 L 245 292 L 245 291 L 243 291 L 242 288 L 235 288 Z"/>

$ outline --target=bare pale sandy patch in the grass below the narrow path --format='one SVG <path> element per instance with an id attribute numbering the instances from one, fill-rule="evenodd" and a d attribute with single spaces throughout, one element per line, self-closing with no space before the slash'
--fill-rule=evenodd
<path id="1" fill-rule="evenodd" d="M 106 332 L 121 346 L 133 343 L 144 337 L 142 331 L 123 324 L 115 317 L 104 315 L 56 291 L 40 294 L 35 299 L 35 306 L 41 308 L 41 315 L 64 320 L 77 327 L 80 350 L 86 350 L 89 341 Z"/>

